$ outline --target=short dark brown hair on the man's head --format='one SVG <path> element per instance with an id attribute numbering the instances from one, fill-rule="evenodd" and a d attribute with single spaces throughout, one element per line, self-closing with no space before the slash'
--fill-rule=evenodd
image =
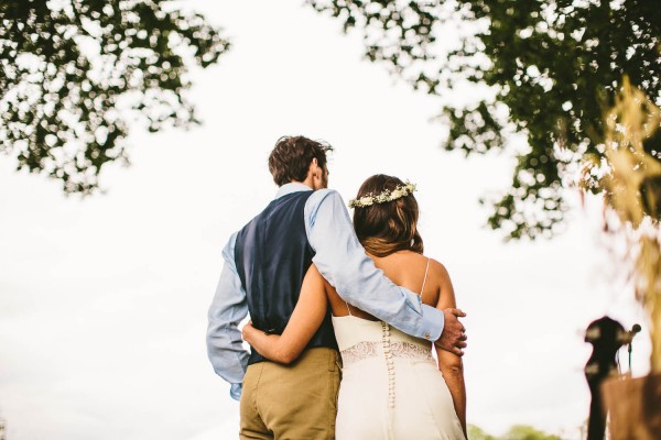
<path id="1" fill-rule="evenodd" d="M 319 167 L 326 166 L 326 152 L 333 147 L 325 142 L 304 136 L 282 136 L 269 156 L 269 170 L 275 185 L 282 186 L 292 180 L 303 182 L 313 158 Z"/>

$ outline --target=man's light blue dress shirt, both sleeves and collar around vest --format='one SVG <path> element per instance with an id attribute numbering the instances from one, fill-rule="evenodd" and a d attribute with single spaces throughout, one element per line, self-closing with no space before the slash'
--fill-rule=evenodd
<path id="1" fill-rule="evenodd" d="M 310 187 L 291 183 L 275 198 Z M 416 338 L 435 341 L 443 331 L 443 312 L 422 304 L 420 296 L 393 284 L 358 241 L 339 194 L 319 189 L 305 202 L 305 231 L 315 251 L 312 258 L 319 273 L 347 302 Z M 249 353 L 243 349 L 238 326 L 248 315 L 246 290 L 235 263 L 234 233 L 223 250 L 225 264 L 208 312 L 207 351 L 216 373 L 229 382 L 230 396 L 241 396 Z"/>

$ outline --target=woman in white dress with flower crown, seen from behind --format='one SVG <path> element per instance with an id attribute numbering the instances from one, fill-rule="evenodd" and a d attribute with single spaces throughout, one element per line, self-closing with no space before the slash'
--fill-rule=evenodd
<path id="1" fill-rule="evenodd" d="M 415 187 L 397 177 L 368 178 L 349 202 L 358 240 L 395 284 L 420 293 L 424 304 L 456 307 L 445 267 L 422 254 Z M 342 353 L 336 438 L 465 439 L 466 389 L 462 360 L 432 343 L 391 328 L 348 305 L 312 265 L 296 308 L 282 333 L 264 334 L 250 323 L 243 339 L 275 362 L 291 363 L 326 314 Z"/>

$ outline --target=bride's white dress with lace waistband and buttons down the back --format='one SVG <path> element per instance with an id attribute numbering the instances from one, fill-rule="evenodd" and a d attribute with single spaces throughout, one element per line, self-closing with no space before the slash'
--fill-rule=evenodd
<path id="1" fill-rule="evenodd" d="M 386 322 L 333 317 L 343 377 L 337 440 L 464 440 L 429 341 Z"/>

